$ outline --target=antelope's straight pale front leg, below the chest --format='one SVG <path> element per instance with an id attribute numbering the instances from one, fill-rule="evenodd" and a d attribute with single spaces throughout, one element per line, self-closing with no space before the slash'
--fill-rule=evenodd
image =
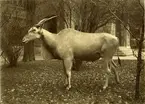
<path id="1" fill-rule="evenodd" d="M 65 59 L 64 60 L 64 68 L 65 68 L 65 74 L 66 74 L 66 80 L 67 83 L 66 89 L 69 90 L 71 88 L 71 68 L 72 68 L 73 61 L 72 59 Z"/>

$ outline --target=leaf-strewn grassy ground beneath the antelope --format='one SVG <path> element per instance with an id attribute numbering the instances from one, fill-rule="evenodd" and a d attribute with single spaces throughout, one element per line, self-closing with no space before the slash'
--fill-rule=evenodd
<path id="1" fill-rule="evenodd" d="M 72 72 L 72 89 L 64 87 L 61 61 L 20 62 L 15 68 L 2 68 L 2 104 L 143 104 L 133 100 L 135 61 L 122 61 L 118 68 L 121 79 L 116 84 L 112 74 L 109 87 L 102 91 L 104 70 L 101 61 L 84 62 L 80 71 Z"/>

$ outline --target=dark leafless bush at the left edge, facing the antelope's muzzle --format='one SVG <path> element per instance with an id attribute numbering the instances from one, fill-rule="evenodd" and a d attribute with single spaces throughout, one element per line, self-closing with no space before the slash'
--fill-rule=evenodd
<path id="1" fill-rule="evenodd" d="M 3 27 L 3 34 L 1 37 L 1 55 L 4 58 L 5 63 L 8 63 L 10 66 L 17 65 L 17 60 L 22 49 L 21 28 L 17 23 L 18 21 L 9 22 Z"/>

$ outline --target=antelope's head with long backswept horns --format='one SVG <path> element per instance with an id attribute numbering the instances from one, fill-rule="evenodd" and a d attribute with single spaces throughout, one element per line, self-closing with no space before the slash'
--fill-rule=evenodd
<path id="1" fill-rule="evenodd" d="M 27 35 L 25 35 L 22 39 L 22 42 L 28 43 L 29 41 L 39 39 L 42 35 L 42 26 L 46 21 L 49 21 L 53 18 L 56 18 L 57 16 L 52 16 L 50 18 L 44 18 L 41 21 L 39 21 L 37 24 L 35 24 L 33 27 L 31 27 L 28 30 Z"/>

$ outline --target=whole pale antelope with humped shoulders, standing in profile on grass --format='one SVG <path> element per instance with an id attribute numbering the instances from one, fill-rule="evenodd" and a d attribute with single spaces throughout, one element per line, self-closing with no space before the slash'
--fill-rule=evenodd
<path id="1" fill-rule="evenodd" d="M 117 37 L 108 33 L 85 33 L 70 28 L 53 34 L 41 27 L 49 19 L 43 19 L 36 26 L 30 28 L 28 35 L 23 38 L 23 42 L 27 43 L 41 38 L 43 46 L 49 50 L 51 57 L 63 60 L 67 89 L 71 88 L 71 69 L 74 59 L 95 61 L 102 58 L 106 70 L 103 89 L 106 89 L 111 73 L 109 64 L 113 67 L 112 57 L 119 46 Z M 115 72 L 116 81 L 119 82 L 116 69 L 114 67 L 112 69 Z"/>

